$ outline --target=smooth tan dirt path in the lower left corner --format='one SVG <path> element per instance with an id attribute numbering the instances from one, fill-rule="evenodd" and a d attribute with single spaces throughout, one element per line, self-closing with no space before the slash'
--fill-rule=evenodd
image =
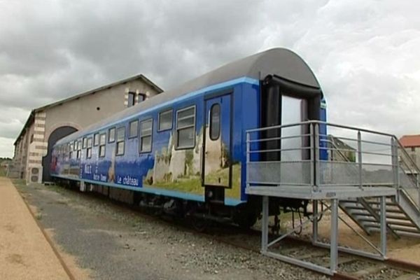
<path id="1" fill-rule="evenodd" d="M 25 202 L 0 177 L 0 279 L 69 279 Z"/>

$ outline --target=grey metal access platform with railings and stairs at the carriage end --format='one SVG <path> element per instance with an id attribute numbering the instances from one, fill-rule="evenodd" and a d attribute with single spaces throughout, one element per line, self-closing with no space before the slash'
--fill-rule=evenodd
<path id="1" fill-rule="evenodd" d="M 387 233 L 420 237 L 420 170 L 394 135 L 307 121 L 248 130 L 246 140 L 246 193 L 262 196 L 262 254 L 332 275 L 338 251 L 384 260 Z M 311 202 L 313 211 L 298 228 L 312 225 L 312 243 L 330 248 L 329 267 L 269 250 L 297 230 L 268 240 L 269 197 Z M 367 235 L 379 232 L 379 244 L 353 229 L 339 209 Z M 329 244 L 318 240 L 318 219 L 328 211 Z M 339 246 L 339 221 L 374 253 Z"/>

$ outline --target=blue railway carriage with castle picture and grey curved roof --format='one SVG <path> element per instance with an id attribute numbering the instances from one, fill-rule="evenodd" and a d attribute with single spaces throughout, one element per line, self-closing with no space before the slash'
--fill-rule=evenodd
<path id="1" fill-rule="evenodd" d="M 136 204 L 249 226 L 260 215 L 260 201 L 245 193 L 246 130 L 325 120 L 324 104 L 302 58 L 274 48 L 57 141 L 50 173 L 55 179 L 133 191 Z M 275 137 L 272 133 L 281 134 L 260 137 Z M 278 153 L 255 156 L 279 158 Z M 306 209 L 306 203 L 276 200 L 270 213 L 279 214 L 281 207 Z"/>

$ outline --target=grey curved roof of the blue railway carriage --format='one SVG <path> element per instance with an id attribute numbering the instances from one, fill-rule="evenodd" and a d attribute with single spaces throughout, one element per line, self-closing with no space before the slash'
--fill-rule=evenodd
<path id="1" fill-rule="evenodd" d="M 295 52 L 285 48 L 273 48 L 239 59 L 235 62 L 225 64 L 218 69 L 205 73 L 193 80 L 189 80 L 173 90 L 162 92 L 161 94 L 158 94 L 151 99 L 147 99 L 136 106 L 120 111 L 115 115 L 100 121 L 99 123 L 94 123 L 93 125 L 86 127 L 84 130 L 80 130 L 68 137 L 64 137 L 63 139 L 57 141 L 57 144 L 63 144 L 68 141 L 78 139 L 87 133 L 100 130 L 102 127 L 105 127 L 110 123 L 115 123 L 118 120 L 130 117 L 153 106 L 163 104 L 164 102 L 168 102 L 176 97 L 181 97 L 184 94 L 200 90 L 204 87 L 209 87 L 211 85 L 216 85 L 218 83 L 242 77 L 262 80 L 266 76 L 274 74 L 285 80 L 290 80 L 293 83 L 307 85 L 316 89 L 320 88 L 314 73 L 312 73 L 309 66 L 301 57 L 295 54 Z"/>

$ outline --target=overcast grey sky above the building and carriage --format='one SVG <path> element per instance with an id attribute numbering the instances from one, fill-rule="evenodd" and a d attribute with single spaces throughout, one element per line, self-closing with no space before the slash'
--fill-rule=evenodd
<path id="1" fill-rule="evenodd" d="M 0 157 L 38 106 L 137 73 L 169 89 L 273 47 L 313 69 L 330 122 L 420 134 L 418 0 L 0 0 Z"/>

